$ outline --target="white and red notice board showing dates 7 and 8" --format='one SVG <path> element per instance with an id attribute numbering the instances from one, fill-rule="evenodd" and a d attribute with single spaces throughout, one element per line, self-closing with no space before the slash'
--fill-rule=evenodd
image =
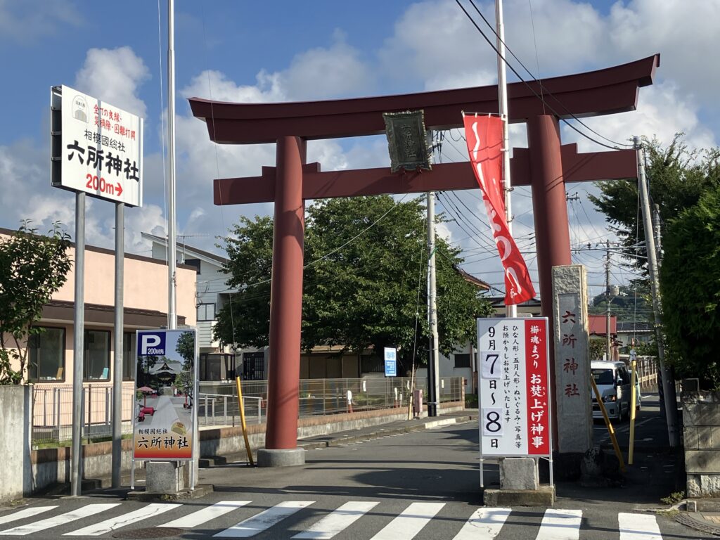
<path id="1" fill-rule="evenodd" d="M 480 454 L 549 456 L 546 318 L 477 319 Z"/>

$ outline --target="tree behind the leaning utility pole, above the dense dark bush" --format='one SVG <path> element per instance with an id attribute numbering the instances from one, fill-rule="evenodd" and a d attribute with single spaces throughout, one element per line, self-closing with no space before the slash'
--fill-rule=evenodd
<path id="1" fill-rule="evenodd" d="M 663 148 L 657 139 L 644 139 L 643 143 L 649 194 L 652 202 L 660 207 L 662 235 L 665 236 L 665 223 L 696 204 L 704 192 L 720 181 L 720 150 L 692 150 L 683 140 L 682 133 L 676 134 L 667 148 Z M 635 247 L 638 240 L 642 242 L 645 238 L 637 181 L 603 181 L 596 185 L 600 188 L 600 197 L 591 195 L 590 201 L 606 215 L 611 230 L 621 239 L 629 265 L 647 273 L 644 247 Z"/>

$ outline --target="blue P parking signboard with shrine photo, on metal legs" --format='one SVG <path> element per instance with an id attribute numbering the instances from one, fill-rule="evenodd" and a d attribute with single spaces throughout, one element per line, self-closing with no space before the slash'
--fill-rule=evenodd
<path id="1" fill-rule="evenodd" d="M 197 330 L 138 330 L 137 343 L 130 489 L 135 460 L 192 461 L 198 432 Z"/>

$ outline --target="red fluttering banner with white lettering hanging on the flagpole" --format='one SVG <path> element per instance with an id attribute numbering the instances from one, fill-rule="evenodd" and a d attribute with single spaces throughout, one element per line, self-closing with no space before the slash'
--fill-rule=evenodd
<path id="1" fill-rule="evenodd" d="M 505 305 L 516 305 L 535 296 L 528 267 L 510 235 L 505 216 L 503 175 L 503 121 L 496 116 L 463 117 L 470 163 L 482 191 L 492 238 L 505 269 Z"/>

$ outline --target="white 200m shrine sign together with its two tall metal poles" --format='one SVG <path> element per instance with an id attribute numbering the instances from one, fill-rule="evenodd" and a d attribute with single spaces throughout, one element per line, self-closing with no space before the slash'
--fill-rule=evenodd
<path id="1" fill-rule="evenodd" d="M 120 487 L 124 207 L 143 204 L 143 119 L 70 86 L 50 89 L 50 179 L 76 194 L 71 493 L 80 495 L 86 194 L 115 203 L 112 485 Z"/>

